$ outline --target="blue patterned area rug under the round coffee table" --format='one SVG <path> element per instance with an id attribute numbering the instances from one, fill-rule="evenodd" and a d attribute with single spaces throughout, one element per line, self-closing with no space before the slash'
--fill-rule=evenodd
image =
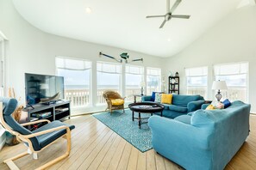
<path id="1" fill-rule="evenodd" d="M 134 119 L 133 122 L 132 112 L 129 109 L 126 109 L 125 113 L 120 110 L 113 111 L 111 115 L 109 112 L 100 112 L 93 114 L 93 116 L 141 152 L 153 148 L 150 128 L 147 124 L 141 124 L 139 129 L 138 120 Z M 141 118 L 149 116 L 150 114 L 141 114 Z M 137 112 L 134 112 L 134 117 L 138 117 Z"/>

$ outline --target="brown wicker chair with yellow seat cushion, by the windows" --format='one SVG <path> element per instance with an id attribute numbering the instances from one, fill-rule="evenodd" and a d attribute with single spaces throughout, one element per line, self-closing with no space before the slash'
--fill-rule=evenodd
<path id="1" fill-rule="evenodd" d="M 116 91 L 106 90 L 103 92 L 103 97 L 107 101 L 108 107 L 106 111 L 109 110 L 112 113 L 113 110 L 121 110 L 124 112 L 124 98 Z"/>

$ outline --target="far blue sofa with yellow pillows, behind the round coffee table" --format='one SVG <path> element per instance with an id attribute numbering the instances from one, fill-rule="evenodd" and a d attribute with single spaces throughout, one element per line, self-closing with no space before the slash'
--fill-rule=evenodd
<path id="1" fill-rule="evenodd" d="M 153 101 L 150 95 L 143 96 L 142 101 Z M 172 105 L 163 104 L 165 109 L 163 116 L 176 118 L 178 116 L 193 112 L 201 108 L 204 99 L 201 95 L 179 95 L 172 94 Z"/>

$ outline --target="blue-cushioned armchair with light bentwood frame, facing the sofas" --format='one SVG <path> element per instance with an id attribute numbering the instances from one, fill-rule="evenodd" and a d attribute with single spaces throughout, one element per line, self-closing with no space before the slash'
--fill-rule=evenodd
<path id="1" fill-rule="evenodd" d="M 50 122 L 47 119 L 41 119 L 25 124 L 18 124 L 16 120 L 11 116 L 11 114 L 16 110 L 16 106 L 16 99 L 0 97 L 0 119 L 3 127 L 6 131 L 9 131 L 11 134 L 15 135 L 19 141 L 24 142 L 28 146 L 27 152 L 3 161 L 8 165 L 10 169 L 19 169 L 18 167 L 16 167 L 16 164 L 13 161 L 25 155 L 33 154 L 34 159 L 37 159 L 38 152 L 41 152 L 42 149 L 45 149 L 47 146 L 51 145 L 61 137 L 66 138 L 67 141 L 66 153 L 36 169 L 45 169 L 47 167 L 50 167 L 57 161 L 65 159 L 70 154 L 71 130 L 75 128 L 74 125 L 62 123 L 59 120 Z M 23 127 L 26 125 L 38 124 L 43 122 L 47 124 L 41 126 L 35 131 L 28 131 L 28 129 Z"/>

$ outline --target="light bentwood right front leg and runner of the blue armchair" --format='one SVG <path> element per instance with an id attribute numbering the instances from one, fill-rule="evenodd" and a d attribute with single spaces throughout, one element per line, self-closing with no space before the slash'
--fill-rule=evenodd
<path id="1" fill-rule="evenodd" d="M 64 155 L 61 155 L 58 158 L 54 159 L 53 161 L 49 161 L 45 165 L 36 168 L 35 170 L 46 169 L 47 167 L 52 166 L 53 164 L 57 163 L 58 161 L 65 159 L 68 155 L 70 155 L 70 151 L 71 151 L 71 133 L 70 133 L 70 131 L 68 131 L 66 133 L 66 153 Z"/>

